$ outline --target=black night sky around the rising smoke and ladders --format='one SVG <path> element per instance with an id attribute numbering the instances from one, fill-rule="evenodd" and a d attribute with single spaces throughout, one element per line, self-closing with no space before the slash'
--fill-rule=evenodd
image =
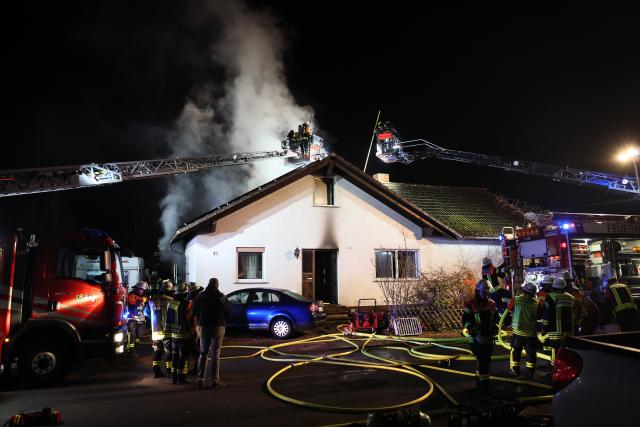
<path id="1" fill-rule="evenodd" d="M 199 1 L 32 2 L 4 11 L 0 169 L 163 158 L 194 87 L 216 82 L 219 23 Z M 428 9 L 418 2 L 265 2 L 289 89 L 335 151 L 364 164 L 376 113 L 405 139 L 577 168 L 640 144 L 640 17 Z M 422 7 L 423 8 L 423 7 Z M 283 131 L 293 127 L 283 123 Z M 274 147 L 277 149 L 278 147 Z M 640 213 L 628 196 L 438 160 L 372 158 L 401 182 L 486 187 L 553 209 Z M 88 226 L 150 257 L 160 178 L 0 199 L 0 235 Z M 189 218 L 184 218 L 188 220 Z"/>

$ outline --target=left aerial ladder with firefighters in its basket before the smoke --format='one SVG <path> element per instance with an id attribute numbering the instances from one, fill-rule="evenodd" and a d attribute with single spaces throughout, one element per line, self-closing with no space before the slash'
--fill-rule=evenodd
<path id="1" fill-rule="evenodd" d="M 283 158 L 284 161 L 295 165 L 326 157 L 322 138 L 311 132 L 308 123 L 300 128 L 303 127 L 306 133 L 291 131 L 287 139 L 282 141 L 281 150 L 2 170 L 0 197 L 95 187 L 198 172 L 214 167 L 246 165 L 274 158 Z"/>

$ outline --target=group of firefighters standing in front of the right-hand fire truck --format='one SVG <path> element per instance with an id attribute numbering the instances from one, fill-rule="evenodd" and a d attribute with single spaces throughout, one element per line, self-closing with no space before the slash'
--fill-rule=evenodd
<path id="1" fill-rule="evenodd" d="M 534 376 L 540 347 L 550 349 L 553 364 L 565 339 L 580 333 L 586 316 L 582 292 L 568 272 L 562 277 L 544 276 L 537 284 L 525 282 L 513 298 L 505 288 L 504 278 L 504 266 L 495 267 L 490 258 L 485 258 L 482 279 L 462 315 L 464 333 L 478 361 L 476 381 L 483 388 L 489 387 L 489 367 L 500 316 L 511 315 L 510 370 L 514 376 L 521 375 L 525 349 L 527 379 Z M 615 277 L 610 279 L 604 296 L 621 332 L 640 331 L 640 311 L 625 284 L 618 283 Z"/>

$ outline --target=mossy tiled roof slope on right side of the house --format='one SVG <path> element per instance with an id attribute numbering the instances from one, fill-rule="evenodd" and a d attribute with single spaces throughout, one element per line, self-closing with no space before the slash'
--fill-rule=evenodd
<path id="1" fill-rule="evenodd" d="M 486 188 L 385 183 L 403 199 L 465 238 L 495 239 L 502 227 L 522 225 L 522 212 Z"/>

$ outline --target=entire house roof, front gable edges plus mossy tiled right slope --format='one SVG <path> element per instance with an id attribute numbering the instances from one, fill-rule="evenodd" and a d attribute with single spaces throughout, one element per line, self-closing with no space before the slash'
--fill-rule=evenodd
<path id="1" fill-rule="evenodd" d="M 194 218 L 180 227 L 171 243 L 184 240 L 199 233 L 210 232 L 215 222 L 251 203 L 297 181 L 307 175 L 338 174 L 363 191 L 376 197 L 390 208 L 402 214 L 415 224 L 429 227 L 435 235 L 454 239 L 486 238 L 495 239 L 503 226 L 514 223 L 513 215 L 502 215 L 498 211 L 496 197 L 484 189 L 437 187 L 415 184 L 382 184 L 337 154 L 323 160 L 311 162 L 286 173 L 273 181 L 257 187 L 240 197 L 222 204 L 211 211 Z M 436 189 L 438 189 L 436 191 Z M 447 196 L 450 194 L 450 196 Z M 458 196 L 455 196 L 457 194 Z M 464 197 L 473 196 L 465 202 Z M 433 200 L 431 200 L 433 199 Z M 493 200 L 493 203 L 490 201 Z M 435 207 L 438 207 L 437 209 Z M 470 216 L 469 218 L 466 218 Z"/>

